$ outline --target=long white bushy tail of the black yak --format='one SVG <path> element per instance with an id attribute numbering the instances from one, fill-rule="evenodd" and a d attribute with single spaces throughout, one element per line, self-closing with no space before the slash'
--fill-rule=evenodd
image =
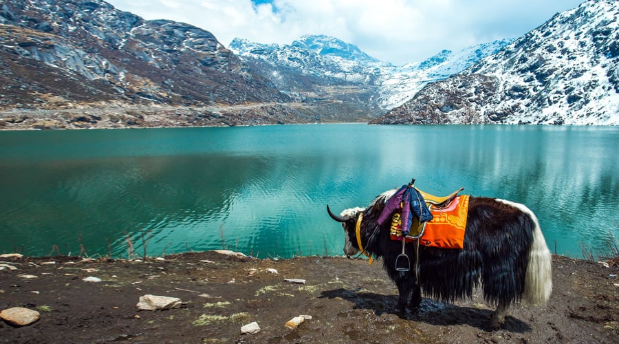
<path id="1" fill-rule="evenodd" d="M 545 305 L 552 293 L 552 258 L 537 217 L 528 208 L 527 210 L 535 223 L 535 228 L 533 244 L 529 251 L 523 299 L 532 305 Z"/>

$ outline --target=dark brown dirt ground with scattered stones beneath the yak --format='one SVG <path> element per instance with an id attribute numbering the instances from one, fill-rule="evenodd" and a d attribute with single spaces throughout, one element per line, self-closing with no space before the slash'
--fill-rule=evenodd
<path id="1" fill-rule="evenodd" d="M 492 331 L 479 292 L 445 305 L 423 299 L 393 313 L 398 291 L 380 261 L 340 257 L 239 259 L 191 252 L 146 261 L 4 258 L 0 310 L 39 310 L 32 325 L 0 321 L 2 343 L 617 343 L 619 267 L 553 256 L 544 308 L 516 305 Z M 51 262 L 54 263 L 51 263 Z M 277 273 L 269 272 L 275 269 Z M 28 275 L 36 277 L 28 277 Z M 98 277 L 100 282 L 83 281 Z M 305 279 L 305 284 L 285 279 Z M 140 296 L 181 308 L 138 310 Z M 310 315 L 296 329 L 294 316 Z M 257 334 L 241 326 L 257 322 Z"/>

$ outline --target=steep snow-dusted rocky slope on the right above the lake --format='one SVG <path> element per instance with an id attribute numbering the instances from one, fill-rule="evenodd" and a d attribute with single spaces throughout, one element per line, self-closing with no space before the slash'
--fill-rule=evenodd
<path id="1" fill-rule="evenodd" d="M 619 125 L 618 17 L 586 1 L 372 123 Z"/>

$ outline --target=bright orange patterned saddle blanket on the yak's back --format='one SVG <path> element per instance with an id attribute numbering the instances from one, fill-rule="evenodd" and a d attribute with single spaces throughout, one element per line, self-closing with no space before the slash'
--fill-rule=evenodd
<path id="1" fill-rule="evenodd" d="M 468 215 L 468 195 L 456 197 L 449 206 L 442 209 L 430 208 L 434 218 L 422 226 L 419 243 L 422 246 L 438 248 L 464 248 L 464 230 Z M 417 223 L 418 224 L 418 223 Z M 413 226 L 415 223 L 413 223 Z M 411 226 L 411 230 L 413 229 Z M 401 233 L 391 233 L 391 239 L 402 240 Z M 417 237 L 406 236 L 406 242 L 415 241 Z"/>

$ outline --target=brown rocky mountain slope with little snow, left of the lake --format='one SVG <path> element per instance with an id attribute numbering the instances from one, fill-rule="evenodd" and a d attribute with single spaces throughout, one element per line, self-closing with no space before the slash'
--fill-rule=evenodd
<path id="1" fill-rule="evenodd" d="M 210 32 L 173 21 L 146 21 L 101 0 L 3 1 L 0 89 L 0 110 L 290 100 Z M 288 110 L 291 118 L 285 122 L 307 121 L 299 111 Z M 230 123 L 218 114 L 197 115 L 204 125 L 259 124 L 252 116 Z"/>

